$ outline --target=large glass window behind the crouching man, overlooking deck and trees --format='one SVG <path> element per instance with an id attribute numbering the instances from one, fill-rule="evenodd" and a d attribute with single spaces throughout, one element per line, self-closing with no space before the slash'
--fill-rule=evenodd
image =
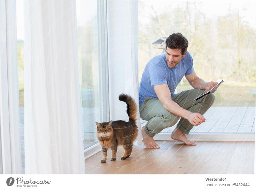
<path id="1" fill-rule="evenodd" d="M 165 51 L 166 37 L 177 32 L 188 39 L 197 76 L 225 80 L 205 113 L 208 121 L 191 132 L 254 133 L 255 7 L 248 2 L 139 2 L 139 80 L 147 62 Z M 184 77 L 176 92 L 191 88 Z"/>

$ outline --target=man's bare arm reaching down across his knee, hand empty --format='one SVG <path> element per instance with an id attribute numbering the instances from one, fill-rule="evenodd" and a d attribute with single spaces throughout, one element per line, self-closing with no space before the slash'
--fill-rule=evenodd
<path id="1" fill-rule="evenodd" d="M 187 119 L 192 125 L 199 125 L 205 121 L 200 113 L 192 113 L 180 107 L 176 102 L 172 101 L 171 92 L 167 84 L 155 85 L 154 90 L 164 108 L 174 115 Z"/>

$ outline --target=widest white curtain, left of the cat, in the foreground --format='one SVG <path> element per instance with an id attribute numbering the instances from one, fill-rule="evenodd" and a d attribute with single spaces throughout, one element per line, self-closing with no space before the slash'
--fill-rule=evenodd
<path id="1" fill-rule="evenodd" d="M 26 174 L 84 173 L 76 1 L 25 0 Z"/>

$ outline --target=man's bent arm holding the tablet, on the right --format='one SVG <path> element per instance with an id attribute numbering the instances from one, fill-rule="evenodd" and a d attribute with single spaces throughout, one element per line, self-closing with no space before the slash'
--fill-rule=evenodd
<path id="1" fill-rule="evenodd" d="M 208 83 L 205 82 L 203 79 L 197 77 L 195 71 L 190 75 L 185 75 L 185 77 L 187 78 L 189 84 L 195 89 L 210 90 L 213 86 L 218 84 L 218 82 L 214 81 Z M 214 91 L 212 91 L 212 93 L 215 92 L 217 88 Z"/>

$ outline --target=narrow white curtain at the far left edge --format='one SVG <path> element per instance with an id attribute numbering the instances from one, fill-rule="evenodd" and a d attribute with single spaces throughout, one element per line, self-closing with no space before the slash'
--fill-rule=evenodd
<path id="1" fill-rule="evenodd" d="M 0 1 L 0 173 L 22 174 L 16 2 Z"/>

